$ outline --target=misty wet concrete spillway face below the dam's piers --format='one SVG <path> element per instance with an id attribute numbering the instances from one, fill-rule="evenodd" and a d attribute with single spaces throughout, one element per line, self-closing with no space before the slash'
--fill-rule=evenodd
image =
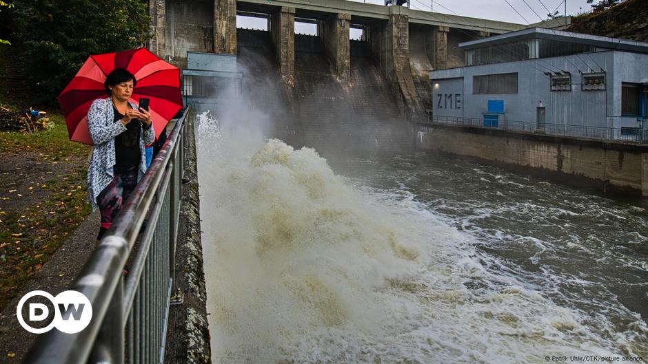
<path id="1" fill-rule="evenodd" d="M 294 78 L 282 77 L 270 32 L 237 32 L 241 98 L 267 116 L 267 132 L 295 147 L 402 151 L 414 144 L 410 123 L 381 68 L 352 44 L 350 76 L 339 79 L 320 36 L 296 34 Z"/>

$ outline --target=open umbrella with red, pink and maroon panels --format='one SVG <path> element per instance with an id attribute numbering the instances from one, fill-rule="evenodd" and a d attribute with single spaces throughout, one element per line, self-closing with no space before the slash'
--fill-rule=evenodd
<path id="1" fill-rule="evenodd" d="M 131 102 L 139 103 L 141 97 L 150 98 L 149 111 L 156 138 L 182 109 L 178 67 L 162 61 L 145 48 L 90 56 L 59 95 L 70 140 L 92 144 L 86 118 L 88 109 L 93 100 L 108 97 L 103 82 L 116 68 L 127 69 L 137 80 Z"/>

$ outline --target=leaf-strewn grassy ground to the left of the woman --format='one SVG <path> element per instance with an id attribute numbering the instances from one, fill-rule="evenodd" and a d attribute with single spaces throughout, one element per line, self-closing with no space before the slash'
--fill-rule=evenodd
<path id="1" fill-rule="evenodd" d="M 68 140 L 65 120 L 34 134 L 0 132 L 0 309 L 90 213 L 90 147 Z"/>

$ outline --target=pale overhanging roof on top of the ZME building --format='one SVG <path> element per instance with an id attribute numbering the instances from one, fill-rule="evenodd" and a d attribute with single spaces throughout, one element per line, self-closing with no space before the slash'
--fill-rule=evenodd
<path id="1" fill-rule="evenodd" d="M 495 36 L 489 36 L 476 41 L 460 43 L 459 47 L 463 50 L 472 50 L 498 43 L 510 43 L 512 41 L 523 41 L 526 39 L 549 39 L 551 41 L 563 41 L 567 43 L 578 43 L 594 45 L 600 48 L 610 50 L 625 50 L 629 52 L 648 53 L 648 43 L 628 41 L 627 39 L 609 38 L 607 36 L 597 36 L 590 34 L 580 34 L 574 32 L 565 32 L 563 30 L 554 30 L 547 28 L 529 28 L 518 30 Z"/>

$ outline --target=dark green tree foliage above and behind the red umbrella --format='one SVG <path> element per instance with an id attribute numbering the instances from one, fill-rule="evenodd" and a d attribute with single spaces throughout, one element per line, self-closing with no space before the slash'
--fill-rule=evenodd
<path id="1" fill-rule="evenodd" d="M 14 0 L 11 39 L 26 53 L 40 101 L 53 103 L 90 54 L 127 50 L 150 39 L 147 6 L 134 0 Z"/>

